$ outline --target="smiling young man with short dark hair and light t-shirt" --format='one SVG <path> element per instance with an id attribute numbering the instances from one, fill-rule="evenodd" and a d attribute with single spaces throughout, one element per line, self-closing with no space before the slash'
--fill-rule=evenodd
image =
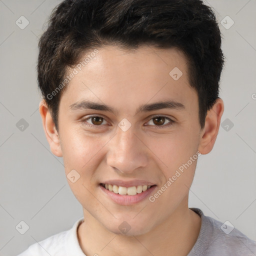
<path id="1" fill-rule="evenodd" d="M 256 255 L 256 242 L 188 208 L 223 113 L 220 46 L 201 0 L 56 7 L 39 41 L 39 111 L 84 217 L 20 256 Z"/>

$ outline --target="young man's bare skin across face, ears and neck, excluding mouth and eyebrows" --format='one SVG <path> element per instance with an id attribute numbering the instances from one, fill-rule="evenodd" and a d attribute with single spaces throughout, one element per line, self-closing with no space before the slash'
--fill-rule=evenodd
<path id="1" fill-rule="evenodd" d="M 98 50 L 61 95 L 58 131 L 43 100 L 39 107 L 52 153 L 63 157 L 65 174 L 72 169 L 80 174 L 75 183 L 67 179 L 83 207 L 85 221 L 77 231 L 80 247 L 87 256 L 187 255 L 201 224 L 200 217 L 188 208 L 196 160 L 154 202 L 147 197 L 132 205 L 119 205 L 102 192 L 99 183 L 107 179 L 147 180 L 156 184 L 150 195 L 154 194 L 196 151 L 211 151 L 223 101 L 217 99 L 201 129 L 198 97 L 189 86 L 181 51 L 153 46 L 133 51 L 104 46 Z M 174 67 L 183 73 L 178 80 L 169 75 Z M 70 108 L 84 99 L 110 105 L 116 113 Z M 135 114 L 141 104 L 167 99 L 185 108 Z M 85 120 L 91 114 L 104 119 Z M 152 115 L 175 122 L 167 126 L 169 120 L 163 119 L 160 124 Z M 118 127 L 123 118 L 131 123 L 126 131 Z M 118 228 L 123 221 L 131 227 L 126 234 Z"/>

